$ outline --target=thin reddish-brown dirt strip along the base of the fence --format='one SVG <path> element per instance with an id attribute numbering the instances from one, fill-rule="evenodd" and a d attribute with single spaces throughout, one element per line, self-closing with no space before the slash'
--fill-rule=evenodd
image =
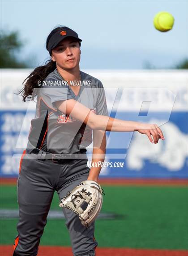
<path id="1" fill-rule="evenodd" d="M 17 178 L 1 178 L 2 185 L 15 185 Z M 100 179 L 101 185 L 108 186 L 175 186 L 188 187 L 188 179 Z"/>

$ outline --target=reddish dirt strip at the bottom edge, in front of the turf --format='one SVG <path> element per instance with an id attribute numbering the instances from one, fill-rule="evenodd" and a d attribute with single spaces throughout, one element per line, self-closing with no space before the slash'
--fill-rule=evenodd
<path id="1" fill-rule="evenodd" d="M 11 256 L 12 254 L 13 246 L 0 246 L 0 255 Z M 73 256 L 73 254 L 70 247 L 40 246 L 38 256 Z M 188 256 L 188 251 L 98 247 L 96 256 Z"/>

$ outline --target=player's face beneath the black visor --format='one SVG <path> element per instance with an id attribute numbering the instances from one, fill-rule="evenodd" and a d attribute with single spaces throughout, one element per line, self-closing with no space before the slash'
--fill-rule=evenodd
<path id="1" fill-rule="evenodd" d="M 75 38 L 65 38 L 56 48 L 51 51 L 51 59 L 56 61 L 56 65 L 65 70 L 79 67 L 80 62 L 80 46 Z"/>

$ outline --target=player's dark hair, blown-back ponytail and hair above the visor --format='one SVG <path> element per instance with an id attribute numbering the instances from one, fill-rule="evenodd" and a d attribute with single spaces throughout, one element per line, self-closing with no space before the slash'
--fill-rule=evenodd
<path id="1" fill-rule="evenodd" d="M 51 36 L 56 33 L 56 31 L 63 26 L 58 25 L 55 27 L 50 34 L 47 37 L 46 40 L 46 48 L 48 45 L 48 42 L 51 38 Z M 65 27 L 64 27 L 65 28 Z M 52 61 L 51 59 L 47 60 L 44 66 L 36 67 L 33 72 L 30 73 L 29 76 L 23 81 L 22 84 L 25 83 L 24 87 L 17 93 L 21 94 L 21 98 L 24 102 L 26 102 L 26 99 L 28 100 L 34 100 L 34 97 L 36 96 L 36 91 L 34 88 L 40 88 L 38 86 L 38 81 L 41 82 L 47 77 L 48 74 L 53 72 L 56 69 L 56 62 Z M 33 93 L 34 90 L 34 93 Z"/>

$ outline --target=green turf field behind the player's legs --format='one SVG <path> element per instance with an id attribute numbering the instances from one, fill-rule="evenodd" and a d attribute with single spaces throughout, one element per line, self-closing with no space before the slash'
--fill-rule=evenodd
<path id="1" fill-rule="evenodd" d="M 97 220 L 100 247 L 188 249 L 188 188 L 162 186 L 103 186 L 102 212 L 119 215 Z M 54 194 L 52 209 L 60 210 Z M 0 208 L 17 209 L 15 185 L 0 187 Z M 0 220 L 0 244 L 12 244 L 17 220 Z M 64 220 L 48 220 L 41 245 L 70 246 Z"/>

